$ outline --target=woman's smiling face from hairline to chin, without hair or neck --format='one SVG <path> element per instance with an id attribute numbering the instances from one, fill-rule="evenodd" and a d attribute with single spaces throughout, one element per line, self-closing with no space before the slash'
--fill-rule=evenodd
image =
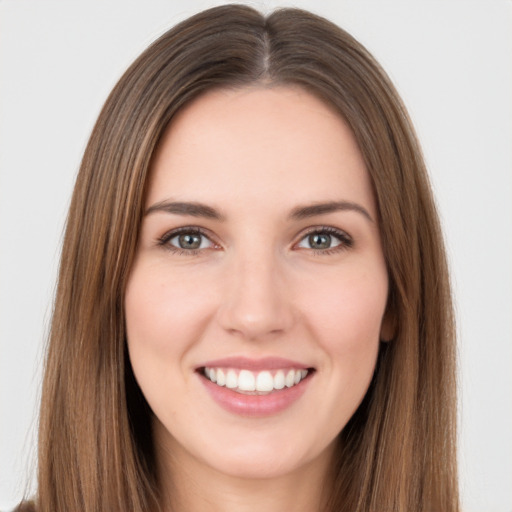
<path id="1" fill-rule="evenodd" d="M 327 461 L 372 378 L 387 293 L 342 118 L 297 88 L 195 100 L 153 160 L 125 297 L 161 453 L 254 478 Z"/>

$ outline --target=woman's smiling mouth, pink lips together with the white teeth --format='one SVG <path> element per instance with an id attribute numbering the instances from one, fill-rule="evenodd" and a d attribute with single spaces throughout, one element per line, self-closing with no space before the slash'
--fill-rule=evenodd
<path id="1" fill-rule="evenodd" d="M 245 416 L 267 416 L 292 406 L 314 372 L 312 367 L 282 358 L 227 358 L 197 368 L 214 401 Z"/>

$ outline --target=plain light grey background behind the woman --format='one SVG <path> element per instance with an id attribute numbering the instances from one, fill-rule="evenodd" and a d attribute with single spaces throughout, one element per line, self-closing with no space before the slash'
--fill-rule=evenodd
<path id="1" fill-rule="evenodd" d="M 0 509 L 33 486 L 43 339 L 94 120 L 140 51 L 217 3 L 0 1 Z M 402 94 L 431 172 L 456 293 L 463 510 L 512 511 L 512 3 L 250 5 L 330 18 L 374 53 Z"/>

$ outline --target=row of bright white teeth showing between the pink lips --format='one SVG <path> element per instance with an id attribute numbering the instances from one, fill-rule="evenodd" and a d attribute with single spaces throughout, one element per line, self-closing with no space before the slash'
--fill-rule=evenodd
<path id="1" fill-rule="evenodd" d="M 285 373 L 286 372 L 286 373 Z M 268 370 L 251 372 L 234 368 L 205 368 L 204 375 L 218 386 L 226 386 L 237 392 L 271 393 L 274 390 L 296 386 L 308 375 L 308 370 L 277 370 L 272 376 Z"/>

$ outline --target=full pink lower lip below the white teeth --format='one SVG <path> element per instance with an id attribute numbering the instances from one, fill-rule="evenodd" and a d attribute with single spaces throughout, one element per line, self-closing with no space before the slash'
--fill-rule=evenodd
<path id="1" fill-rule="evenodd" d="M 273 391 L 268 395 L 244 395 L 224 386 L 217 386 L 204 375 L 199 374 L 201 382 L 211 397 L 223 409 L 241 416 L 271 416 L 284 411 L 295 403 L 306 391 L 312 374 L 291 388 Z"/>

